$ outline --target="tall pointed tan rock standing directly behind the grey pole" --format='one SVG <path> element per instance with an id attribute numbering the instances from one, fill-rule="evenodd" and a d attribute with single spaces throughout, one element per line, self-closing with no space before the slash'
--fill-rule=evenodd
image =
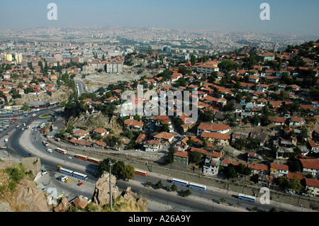
<path id="1" fill-rule="evenodd" d="M 110 203 L 110 178 L 107 172 L 104 172 L 100 179 L 96 181 L 92 202 L 103 206 Z M 116 186 L 116 176 L 111 175 L 111 187 L 113 199 L 118 197 L 118 187 Z"/>

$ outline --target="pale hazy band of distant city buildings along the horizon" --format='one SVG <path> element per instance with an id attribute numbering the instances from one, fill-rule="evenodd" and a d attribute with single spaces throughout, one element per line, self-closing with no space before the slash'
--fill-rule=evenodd
<path id="1" fill-rule="evenodd" d="M 286 48 L 308 40 L 316 40 L 313 35 L 284 35 L 276 33 L 252 33 L 249 31 L 232 32 L 218 30 L 170 30 L 165 28 L 129 27 L 70 27 L 70 28 L 30 28 L 0 30 L 1 40 L 47 40 L 57 43 L 125 43 L 140 48 L 162 49 L 169 45 L 174 52 L 208 53 L 228 52 L 254 45 L 266 50 Z"/>

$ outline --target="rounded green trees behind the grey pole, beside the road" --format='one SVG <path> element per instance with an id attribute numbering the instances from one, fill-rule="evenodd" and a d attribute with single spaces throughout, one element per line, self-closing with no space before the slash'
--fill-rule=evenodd
<path id="1" fill-rule="evenodd" d="M 111 174 L 116 176 L 117 179 L 134 179 L 135 178 L 135 169 L 131 164 L 125 164 L 123 161 L 116 161 L 114 159 L 103 159 L 96 166 L 96 171 L 100 174 L 103 174 L 104 171 L 109 172 L 111 161 Z"/>

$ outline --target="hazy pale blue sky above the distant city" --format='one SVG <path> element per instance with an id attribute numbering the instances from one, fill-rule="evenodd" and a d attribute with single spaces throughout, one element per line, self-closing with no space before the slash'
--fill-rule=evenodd
<path id="1" fill-rule="evenodd" d="M 47 4 L 57 4 L 57 21 Z M 270 6 L 262 21 L 260 4 Z M 135 26 L 319 35 L 318 0 L 0 0 L 0 29 Z"/>

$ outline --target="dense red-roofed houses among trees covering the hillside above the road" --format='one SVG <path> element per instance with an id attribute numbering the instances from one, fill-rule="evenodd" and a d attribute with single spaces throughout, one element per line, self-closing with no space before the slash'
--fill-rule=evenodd
<path id="1" fill-rule="evenodd" d="M 49 55 L 37 54 L 45 47 Z M 35 52 L 32 48 L 26 54 L 21 51 L 22 55 L 4 53 L 2 48 L 2 113 L 32 111 L 39 107 L 36 101 L 58 101 L 65 107 L 67 123 L 60 128 L 55 122 L 47 126 L 48 138 L 106 152 L 163 151 L 167 154 L 164 164 L 174 169 L 319 196 L 319 40 L 289 45 L 282 51 L 198 52 L 185 59 L 129 47 L 92 55 L 85 52 L 89 45 L 74 44 L 62 48 L 69 55 L 64 57 L 56 48 L 40 45 Z M 147 74 L 149 69 L 152 74 Z M 102 72 L 142 77 L 77 95 L 74 77 Z M 167 105 L 163 94 L 168 91 L 189 91 L 189 100 L 173 100 L 174 115 L 123 115 L 123 104 L 135 109 L 149 101 L 123 100 L 123 91 L 136 93 L 141 86 L 155 91 L 158 102 L 164 100 Z M 191 115 L 176 112 L 193 98 L 198 120 L 189 123 L 186 119 Z M 115 118 L 121 130 L 98 122 L 89 127 L 68 122 L 94 115 L 109 121 Z"/>

